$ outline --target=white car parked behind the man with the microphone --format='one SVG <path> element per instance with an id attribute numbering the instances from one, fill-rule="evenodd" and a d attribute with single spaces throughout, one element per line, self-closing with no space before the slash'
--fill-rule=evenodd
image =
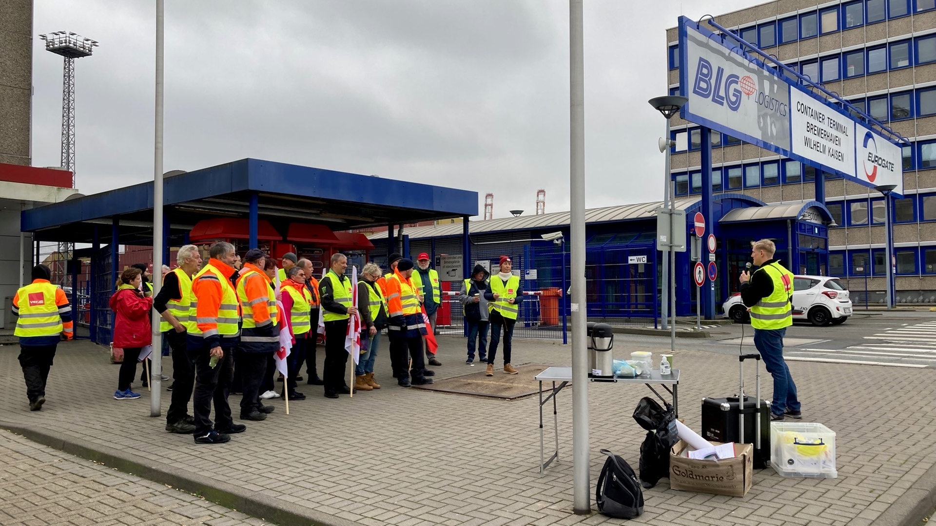
<path id="1" fill-rule="evenodd" d="M 724 301 L 722 315 L 737 323 L 751 319 L 747 307 L 736 292 Z M 845 323 L 852 315 L 852 300 L 839 278 L 829 276 L 794 276 L 793 319 L 809 320 L 812 325 Z"/>

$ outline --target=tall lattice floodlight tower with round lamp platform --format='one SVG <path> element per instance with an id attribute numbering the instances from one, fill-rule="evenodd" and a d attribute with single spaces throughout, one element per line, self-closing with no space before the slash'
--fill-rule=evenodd
<path id="1" fill-rule="evenodd" d="M 75 187 L 75 59 L 91 56 L 97 41 L 68 31 L 39 35 L 46 41 L 46 51 L 65 58 L 62 75 L 62 168 L 71 172 Z"/>

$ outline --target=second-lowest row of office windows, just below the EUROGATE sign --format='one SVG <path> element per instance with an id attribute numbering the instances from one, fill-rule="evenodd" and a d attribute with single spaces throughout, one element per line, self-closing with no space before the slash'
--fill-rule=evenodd
<path id="1" fill-rule="evenodd" d="M 826 208 L 838 226 L 884 225 L 884 197 L 831 201 L 826 202 Z M 936 194 L 894 199 L 891 202 L 890 220 L 894 223 L 936 221 Z"/>

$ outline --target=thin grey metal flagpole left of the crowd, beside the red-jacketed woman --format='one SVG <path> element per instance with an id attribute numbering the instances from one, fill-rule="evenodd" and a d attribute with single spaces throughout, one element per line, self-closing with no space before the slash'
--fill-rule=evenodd
<path id="1" fill-rule="evenodd" d="M 165 1 L 156 0 L 156 113 L 153 157 L 153 293 L 163 286 L 163 48 Z M 150 386 L 150 416 L 159 416 L 163 378 L 163 335 L 159 332 L 161 316 L 153 311 L 153 371 Z"/>

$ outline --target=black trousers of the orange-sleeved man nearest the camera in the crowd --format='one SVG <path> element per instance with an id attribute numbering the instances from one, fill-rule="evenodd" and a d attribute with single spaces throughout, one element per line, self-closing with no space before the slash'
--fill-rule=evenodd
<path id="1" fill-rule="evenodd" d="M 234 376 L 234 348 L 222 347 L 224 358 L 218 360 L 213 368 L 211 356 L 205 346 L 188 347 L 189 359 L 195 361 L 195 392 L 192 397 L 192 411 L 195 413 L 195 435 L 212 431 L 212 402 L 214 402 L 214 425 L 225 430 L 234 423 L 231 420 L 231 408 L 227 404 L 227 394 L 231 378 Z"/>

